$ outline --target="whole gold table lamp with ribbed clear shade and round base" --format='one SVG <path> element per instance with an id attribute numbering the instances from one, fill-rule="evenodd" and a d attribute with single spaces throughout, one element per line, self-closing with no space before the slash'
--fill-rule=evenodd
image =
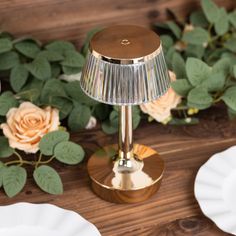
<path id="1" fill-rule="evenodd" d="M 158 99 L 169 84 L 160 38 L 151 30 L 118 25 L 91 39 L 81 87 L 91 98 L 120 108 L 118 145 L 103 147 L 88 161 L 92 188 L 101 198 L 139 202 L 160 187 L 164 162 L 150 147 L 133 144 L 132 105 Z"/>

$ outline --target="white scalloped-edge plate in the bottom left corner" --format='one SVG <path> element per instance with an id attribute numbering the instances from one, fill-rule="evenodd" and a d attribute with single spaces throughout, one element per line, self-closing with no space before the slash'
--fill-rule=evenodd
<path id="1" fill-rule="evenodd" d="M 73 211 L 30 203 L 0 207 L 0 235 L 101 236 L 93 224 Z"/>

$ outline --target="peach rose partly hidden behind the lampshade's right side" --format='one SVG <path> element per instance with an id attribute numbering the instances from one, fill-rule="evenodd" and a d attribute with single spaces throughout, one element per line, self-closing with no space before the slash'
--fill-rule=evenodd
<path id="1" fill-rule="evenodd" d="M 176 75 L 169 71 L 171 81 L 176 80 Z M 153 102 L 140 105 L 144 113 L 149 114 L 156 121 L 165 123 L 171 116 L 171 109 L 175 108 L 181 102 L 181 97 L 170 87 L 168 91 Z"/>

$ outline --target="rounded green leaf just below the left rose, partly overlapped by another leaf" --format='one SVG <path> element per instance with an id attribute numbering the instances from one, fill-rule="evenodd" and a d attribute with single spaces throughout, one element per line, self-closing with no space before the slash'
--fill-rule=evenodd
<path id="1" fill-rule="evenodd" d="M 70 135 L 68 132 L 57 130 L 47 133 L 39 142 L 39 149 L 46 156 L 53 155 L 55 146 L 63 141 L 68 141 Z"/>

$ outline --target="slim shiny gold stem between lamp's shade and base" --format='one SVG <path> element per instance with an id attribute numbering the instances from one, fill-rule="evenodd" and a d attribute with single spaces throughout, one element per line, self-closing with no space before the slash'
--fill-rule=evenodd
<path id="1" fill-rule="evenodd" d="M 134 157 L 132 107 L 120 106 L 119 109 L 119 166 L 127 170 L 132 167 Z"/>

